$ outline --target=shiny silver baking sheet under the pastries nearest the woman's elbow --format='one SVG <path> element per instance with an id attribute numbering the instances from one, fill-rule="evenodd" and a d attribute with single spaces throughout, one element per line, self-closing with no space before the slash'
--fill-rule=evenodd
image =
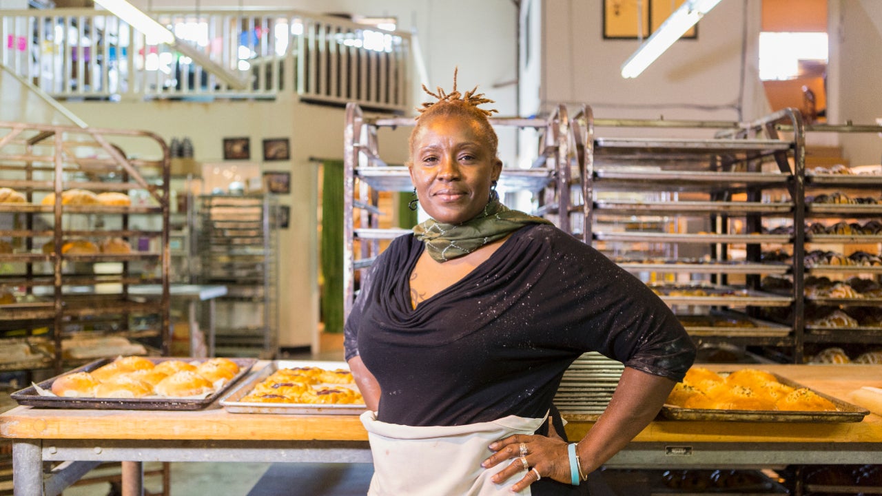
<path id="1" fill-rule="evenodd" d="M 255 386 L 279 369 L 293 369 L 296 367 L 319 367 L 325 370 L 345 369 L 349 370 L 346 362 L 318 361 L 318 360 L 275 360 L 242 381 L 224 398 L 221 406 L 230 413 L 269 413 L 282 415 L 361 415 L 367 406 L 363 403 L 350 404 L 311 404 L 311 403 L 258 403 L 241 402 Z M 349 387 L 349 386 L 348 386 Z M 355 384 L 351 387 L 355 388 Z"/>

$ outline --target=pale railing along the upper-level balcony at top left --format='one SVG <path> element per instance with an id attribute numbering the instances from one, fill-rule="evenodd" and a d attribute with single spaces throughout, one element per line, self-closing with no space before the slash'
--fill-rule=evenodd
<path id="1" fill-rule="evenodd" d="M 147 39 L 108 11 L 91 9 L 3 11 L 0 64 L 58 100 L 293 93 L 310 101 L 407 109 L 409 34 L 294 10 L 150 14 L 215 67 Z M 228 75 L 248 84 L 230 85 Z"/>

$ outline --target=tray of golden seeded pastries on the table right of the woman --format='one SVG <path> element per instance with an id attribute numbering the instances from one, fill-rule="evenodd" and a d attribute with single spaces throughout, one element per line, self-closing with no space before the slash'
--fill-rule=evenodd
<path id="1" fill-rule="evenodd" d="M 714 372 L 693 366 L 676 383 L 662 415 L 676 420 L 861 422 L 870 413 L 772 372 Z"/>

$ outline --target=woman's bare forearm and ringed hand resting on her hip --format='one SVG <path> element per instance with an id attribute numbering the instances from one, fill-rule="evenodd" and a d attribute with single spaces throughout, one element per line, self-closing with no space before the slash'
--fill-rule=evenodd
<path id="1" fill-rule="evenodd" d="M 673 380 L 625 367 L 607 409 L 576 446 L 581 472 L 587 475 L 597 470 L 631 442 L 662 409 L 662 404 L 675 384 Z M 572 473 L 566 443 L 555 436 L 523 434 L 490 444 L 490 449 L 496 453 L 483 462 L 485 468 L 513 459 L 505 470 L 493 477 L 494 482 L 500 484 L 523 470 L 523 464 L 518 460 L 522 443 L 527 445 L 528 466 L 541 477 L 553 478 L 564 484 L 571 483 Z M 531 470 L 512 486 L 512 491 L 521 491 L 536 480 L 538 479 Z"/>

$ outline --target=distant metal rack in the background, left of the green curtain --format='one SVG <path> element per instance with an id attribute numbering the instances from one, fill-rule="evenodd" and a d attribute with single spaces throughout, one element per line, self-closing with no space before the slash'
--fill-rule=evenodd
<path id="1" fill-rule="evenodd" d="M 270 359 L 277 353 L 275 208 L 264 195 L 199 197 L 199 280 L 228 289 L 216 300 L 218 321 L 225 324 L 209 336 L 208 348 L 217 354 Z"/>

